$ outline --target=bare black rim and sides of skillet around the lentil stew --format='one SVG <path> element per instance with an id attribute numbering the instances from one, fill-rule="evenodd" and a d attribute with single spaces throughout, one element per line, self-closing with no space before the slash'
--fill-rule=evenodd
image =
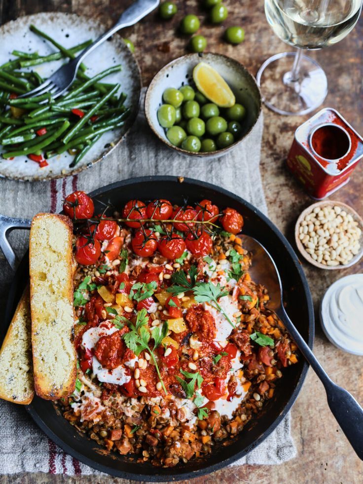
<path id="1" fill-rule="evenodd" d="M 245 220 L 243 232 L 255 237 L 274 258 L 283 282 L 286 309 L 296 328 L 312 347 L 313 304 L 300 262 L 285 237 L 253 205 L 209 183 L 190 179 L 184 179 L 183 183 L 180 183 L 176 177 L 143 177 L 126 180 L 99 188 L 90 195 L 95 201 L 96 213 L 101 209 L 100 202 L 111 202 L 115 207 L 121 208 L 126 201 L 134 198 L 141 200 L 167 198 L 178 204 L 185 200 L 196 202 L 207 198 L 221 208 L 229 206 L 237 209 Z M 28 254 L 26 254 L 10 290 L 10 294 L 15 294 L 16 302 L 28 281 L 28 269 Z M 11 299 L 10 297 L 9 300 Z M 10 322 L 14 304 L 8 304 L 8 306 L 5 321 Z M 35 397 L 32 404 L 27 406 L 27 410 L 53 442 L 84 464 L 112 476 L 136 481 L 178 481 L 221 469 L 258 446 L 290 410 L 301 389 L 307 369 L 308 365 L 303 358 L 297 364 L 288 367 L 265 410 L 245 426 L 230 446 L 216 446 L 207 459 L 191 460 L 187 464 L 173 468 L 156 468 L 148 463 L 138 464 L 113 453 L 103 455 L 100 452 L 101 447 L 78 434 L 68 421 L 54 410 L 51 402 Z"/>

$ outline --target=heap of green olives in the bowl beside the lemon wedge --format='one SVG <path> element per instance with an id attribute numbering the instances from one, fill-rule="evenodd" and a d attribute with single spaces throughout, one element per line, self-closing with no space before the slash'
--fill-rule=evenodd
<path id="1" fill-rule="evenodd" d="M 245 108 L 236 103 L 220 109 L 190 85 L 168 87 L 157 111 L 160 125 L 169 142 L 186 151 L 208 153 L 227 148 L 242 135 Z"/>

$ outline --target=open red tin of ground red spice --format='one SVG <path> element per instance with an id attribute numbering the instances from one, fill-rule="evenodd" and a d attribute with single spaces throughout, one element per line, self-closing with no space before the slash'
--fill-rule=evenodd
<path id="1" fill-rule="evenodd" d="M 323 200 L 349 182 L 362 157 L 362 137 L 339 112 L 324 108 L 296 129 L 287 164 L 309 195 Z"/>

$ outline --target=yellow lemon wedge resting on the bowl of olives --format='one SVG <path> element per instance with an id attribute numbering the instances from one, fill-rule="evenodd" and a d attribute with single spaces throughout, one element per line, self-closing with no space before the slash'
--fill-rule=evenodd
<path id="1" fill-rule="evenodd" d="M 231 88 L 209 64 L 200 62 L 193 69 L 193 80 L 199 91 L 219 108 L 231 108 L 236 103 Z"/>

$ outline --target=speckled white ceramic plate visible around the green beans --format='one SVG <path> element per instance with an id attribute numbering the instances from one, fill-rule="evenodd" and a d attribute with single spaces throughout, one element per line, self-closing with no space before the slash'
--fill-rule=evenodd
<path id="1" fill-rule="evenodd" d="M 26 52 L 38 51 L 41 55 L 56 52 L 56 48 L 46 40 L 30 31 L 31 24 L 49 34 L 65 47 L 73 47 L 88 39 L 96 39 L 107 29 L 99 22 L 67 13 L 38 13 L 20 17 L 0 27 L 0 65 L 14 58 L 13 49 Z M 42 77 L 48 77 L 55 72 L 63 61 L 40 64 L 33 69 Z M 69 165 L 73 156 L 67 152 L 48 160 L 49 166 L 39 168 L 34 161 L 26 156 L 18 156 L 13 160 L 0 159 L 0 176 L 13 180 L 49 180 L 74 175 L 93 163 L 103 160 L 115 146 L 121 142 L 128 129 L 133 124 L 139 109 L 141 74 L 138 63 L 119 35 L 114 35 L 85 59 L 88 67 L 87 75 L 93 76 L 115 64 L 122 65 L 122 71 L 105 77 L 105 82 L 121 84 L 121 90 L 127 94 L 125 106 L 131 109 L 122 128 L 104 133 L 102 138 L 88 151 L 76 167 Z M 112 144 L 112 145 L 111 145 Z"/>

